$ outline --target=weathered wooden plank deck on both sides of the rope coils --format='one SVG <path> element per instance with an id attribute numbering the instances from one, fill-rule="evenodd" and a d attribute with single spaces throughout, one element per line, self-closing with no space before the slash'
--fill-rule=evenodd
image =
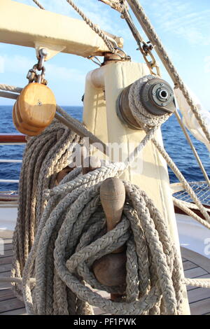
<path id="1" fill-rule="evenodd" d="M 0 258 L 0 277 L 10 276 L 10 268 L 13 261 L 11 235 L 5 234 L 5 255 Z M 0 232 L 1 237 L 1 232 Z M 184 249 L 184 248 L 182 248 Z M 193 251 L 182 250 L 183 269 L 185 276 L 188 278 L 202 277 L 210 278 L 210 260 Z M 195 258 L 193 255 L 195 254 Z M 2 255 L 1 255 L 2 256 Z M 188 256 L 188 257 L 187 257 Z M 25 314 L 24 304 L 18 300 L 13 290 L 10 288 L 10 283 L 0 283 L 0 315 L 16 315 Z M 210 315 L 210 289 L 197 288 L 188 286 L 188 298 L 190 302 L 191 314 L 209 314 Z M 96 290 L 103 297 L 109 298 L 109 294 Z M 103 314 L 104 311 L 98 307 L 94 307 L 94 314 Z"/>

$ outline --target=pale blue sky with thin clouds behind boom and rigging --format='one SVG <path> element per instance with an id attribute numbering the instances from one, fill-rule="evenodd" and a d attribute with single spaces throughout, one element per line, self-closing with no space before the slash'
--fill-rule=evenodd
<path id="1" fill-rule="evenodd" d="M 16 1 L 36 6 L 32 0 Z M 81 19 L 66 0 L 39 1 L 47 10 Z M 126 22 L 118 12 L 98 0 L 75 0 L 75 3 L 102 29 L 123 36 L 124 49 L 134 62 L 144 62 Z M 210 0 L 141 0 L 140 3 L 183 80 L 201 99 L 204 107 L 210 110 Z M 138 23 L 137 27 L 142 33 Z M 0 83 L 24 87 L 27 71 L 35 63 L 33 48 L 0 43 Z M 55 93 L 57 104 L 82 106 L 80 99 L 84 92 L 85 75 L 98 66 L 83 57 L 60 53 L 50 59 L 45 67 L 48 85 Z M 162 77 L 169 80 L 164 69 Z M 3 104 L 13 104 L 13 101 L 0 98 L 0 105 Z"/>

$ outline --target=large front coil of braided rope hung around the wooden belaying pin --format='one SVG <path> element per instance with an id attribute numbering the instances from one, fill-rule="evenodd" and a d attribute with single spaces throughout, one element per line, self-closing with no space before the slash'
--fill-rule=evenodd
<path id="1" fill-rule="evenodd" d="M 64 193 L 57 190 L 57 193 L 50 197 L 23 274 L 22 285 L 27 311 L 29 314 L 71 314 L 69 309 L 72 307 L 69 307 L 69 302 L 73 302 L 74 307 L 76 303 L 75 300 L 67 300 L 64 293 L 67 286 L 79 300 L 113 314 L 160 314 L 160 300 L 164 304 L 162 309 L 165 314 L 180 314 L 182 272 L 177 264 L 176 270 L 174 269 L 174 259 L 179 256 L 171 243 L 165 221 L 143 191 L 124 182 L 127 202 L 123 221 L 114 230 L 105 233 L 105 216 L 99 202 L 99 187 L 104 179 L 116 172 L 111 174 L 110 169 L 106 170 L 106 167 L 103 171 L 106 174 L 99 182 L 95 181 L 94 185 L 91 179 L 90 184 L 87 183 L 88 177 L 95 176 L 92 172 L 80 176 L 80 180 L 84 179 L 80 187 L 75 177 L 69 189 L 66 190 L 65 187 Z M 73 172 L 69 174 L 69 179 L 75 176 Z M 57 227 L 57 238 L 53 239 L 54 264 L 48 267 L 49 245 Z M 102 288 L 90 270 L 92 263 L 123 244 L 127 244 L 129 259 L 126 300 L 111 302 L 90 290 L 78 276 L 95 288 Z M 34 262 L 36 286 L 33 295 L 29 287 L 29 277 Z M 135 271 L 134 267 L 138 270 Z M 52 283 L 53 295 L 46 294 L 49 271 L 56 272 L 57 283 L 60 281 L 59 285 Z M 180 281 L 179 284 L 177 280 Z M 63 293 L 59 293 L 58 287 L 63 287 Z M 179 290 L 176 290 L 178 288 Z M 111 287 L 103 286 L 103 290 L 110 293 Z M 117 290 L 118 287 L 113 287 L 112 291 Z M 53 302 L 55 296 L 58 298 L 57 302 Z M 52 299 L 51 302 L 48 299 Z M 55 307 L 54 310 L 53 305 L 58 304 L 61 306 L 59 309 Z"/>

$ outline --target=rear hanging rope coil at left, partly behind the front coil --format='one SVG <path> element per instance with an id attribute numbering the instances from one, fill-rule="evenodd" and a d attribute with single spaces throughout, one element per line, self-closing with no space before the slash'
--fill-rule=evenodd
<path id="1" fill-rule="evenodd" d="M 38 220 L 46 204 L 43 190 L 55 186 L 57 173 L 68 165 L 69 155 L 77 143 L 80 143 L 80 137 L 57 120 L 27 143 L 20 172 L 18 219 L 13 235 L 13 277 L 22 276 L 34 244 Z M 21 295 L 18 286 L 16 288 Z"/>

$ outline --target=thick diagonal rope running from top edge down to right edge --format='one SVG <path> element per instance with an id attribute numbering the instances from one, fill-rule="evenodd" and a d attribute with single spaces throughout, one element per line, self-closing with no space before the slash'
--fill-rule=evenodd
<path id="1" fill-rule="evenodd" d="M 202 130 L 205 136 L 207 137 L 207 141 L 209 141 L 210 143 L 210 132 L 207 127 L 207 124 L 202 118 L 200 111 L 197 109 L 195 102 L 190 97 L 190 93 L 188 92 L 186 85 L 184 85 L 181 76 L 179 76 L 178 71 L 176 71 L 176 68 L 172 63 L 172 60 L 169 58 L 169 55 L 167 54 L 167 51 L 165 50 L 164 46 L 162 45 L 162 42 L 160 41 L 158 34 L 156 34 L 153 25 L 151 25 L 150 20 L 144 13 L 144 9 L 142 8 L 138 0 L 127 0 L 127 1 L 128 3 L 130 3 L 130 6 L 134 7 L 134 12 L 138 14 L 139 19 L 141 20 L 141 24 L 145 27 L 151 43 L 153 43 L 153 45 L 155 45 L 156 48 L 158 49 L 158 52 L 160 52 L 161 55 L 160 59 L 162 59 L 163 64 L 165 64 L 165 66 L 167 66 L 167 68 L 169 69 L 169 73 L 172 76 L 172 80 L 174 80 L 174 83 L 176 83 L 179 86 L 180 90 L 183 92 L 183 96 L 186 97 L 186 101 L 188 102 L 190 109 L 193 111 L 195 118 L 197 118 L 198 123 L 202 127 Z"/>

